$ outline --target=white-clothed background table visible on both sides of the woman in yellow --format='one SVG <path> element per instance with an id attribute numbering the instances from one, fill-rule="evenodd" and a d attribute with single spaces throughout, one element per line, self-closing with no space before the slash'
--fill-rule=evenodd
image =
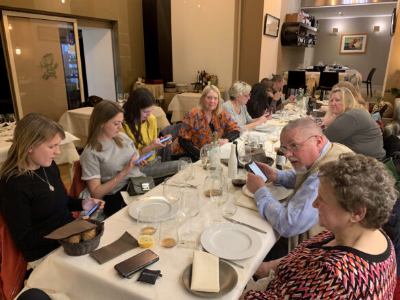
<path id="1" fill-rule="evenodd" d="M 77 108 L 76 110 L 67 110 L 62 114 L 60 125 L 64 130 L 71 132 L 73 135 L 77 136 L 80 140 L 75 141 L 77 147 L 85 147 L 86 140 L 88 139 L 89 121 L 90 115 L 92 114 L 93 108 Z M 157 119 L 157 129 L 160 130 L 170 123 L 166 118 L 165 112 L 159 106 L 155 106 L 153 116 Z"/>

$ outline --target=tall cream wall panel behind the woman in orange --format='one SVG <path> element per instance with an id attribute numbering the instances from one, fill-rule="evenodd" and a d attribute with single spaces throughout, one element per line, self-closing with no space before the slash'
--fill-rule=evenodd
<path id="1" fill-rule="evenodd" d="M 173 81 L 196 82 L 197 71 L 218 75 L 219 86 L 232 84 L 234 1 L 171 0 Z"/>

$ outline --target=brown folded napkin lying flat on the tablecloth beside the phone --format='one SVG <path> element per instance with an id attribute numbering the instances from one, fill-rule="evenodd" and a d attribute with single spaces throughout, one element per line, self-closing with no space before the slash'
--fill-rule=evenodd
<path id="1" fill-rule="evenodd" d="M 131 236 L 128 232 L 125 232 L 121 238 L 118 238 L 115 242 L 93 251 L 90 255 L 95 258 L 99 264 L 104 264 L 105 262 L 116 258 L 118 255 L 138 246 L 136 238 Z"/>

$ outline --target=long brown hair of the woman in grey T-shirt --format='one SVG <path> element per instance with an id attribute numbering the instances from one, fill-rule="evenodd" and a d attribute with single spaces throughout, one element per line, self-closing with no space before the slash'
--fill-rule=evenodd
<path id="1" fill-rule="evenodd" d="M 124 113 L 124 110 L 121 108 L 121 105 L 116 102 L 103 100 L 97 103 L 90 116 L 88 141 L 86 145 L 98 152 L 103 151 L 103 147 L 101 147 L 99 141 L 102 126 L 121 112 Z M 123 142 L 119 136 L 116 136 L 113 140 L 118 147 L 123 148 Z"/>

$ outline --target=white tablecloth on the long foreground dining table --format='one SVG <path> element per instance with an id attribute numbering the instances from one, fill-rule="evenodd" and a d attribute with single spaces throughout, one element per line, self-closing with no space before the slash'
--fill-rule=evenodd
<path id="1" fill-rule="evenodd" d="M 192 229 L 201 233 L 210 226 L 210 220 L 216 214 L 216 207 L 210 199 L 203 196 L 203 181 L 206 172 L 198 165 L 199 163 L 197 163 L 195 179 L 188 183 L 200 184 L 201 210 L 199 215 L 192 219 Z M 224 171 L 227 172 L 226 167 L 224 167 Z M 177 176 L 175 175 L 175 177 Z M 160 195 L 162 195 L 162 185 L 153 188 L 145 196 Z M 125 231 L 135 238 L 140 236 L 136 228 L 136 221 L 128 214 L 128 208 L 129 206 L 123 208 L 105 221 L 105 231 L 99 247 L 114 242 Z M 238 284 L 232 292 L 218 299 L 238 299 L 249 278 L 279 238 L 271 225 L 254 210 L 238 207 L 234 218 L 263 229 L 268 234 L 256 232 L 262 240 L 260 251 L 251 258 L 236 261 L 245 266 L 244 269 L 234 266 L 238 273 Z M 179 227 L 179 234 L 186 229 L 188 229 L 188 222 Z M 137 282 L 136 279 L 140 272 L 135 273 L 131 279 L 125 279 L 114 270 L 115 264 L 140 253 L 144 250 L 141 248 L 127 251 L 104 264 L 99 264 L 89 255 L 72 257 L 66 255 L 63 249 L 58 249 L 34 270 L 28 279 L 27 286 L 44 289 L 47 292 L 51 290 L 64 292 L 68 297 L 65 299 L 199 299 L 189 292 L 182 282 L 182 273 L 192 263 L 193 251 L 177 247 L 163 248 L 159 245 L 158 232 L 153 237 L 155 244 L 151 250 L 160 256 L 160 260 L 148 268 L 161 270 L 162 273 L 162 277 L 155 282 L 155 286 Z"/>

